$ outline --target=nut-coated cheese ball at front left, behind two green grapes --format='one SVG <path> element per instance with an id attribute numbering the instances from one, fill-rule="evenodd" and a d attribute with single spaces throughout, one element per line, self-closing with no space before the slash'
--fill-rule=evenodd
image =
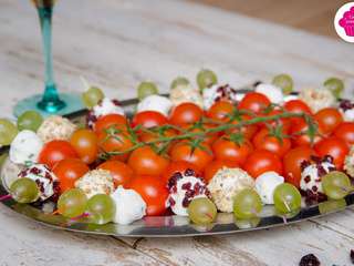
<path id="1" fill-rule="evenodd" d="M 81 188 L 87 198 L 96 194 L 110 195 L 114 191 L 113 176 L 106 170 L 93 170 L 75 182 L 75 187 Z"/>

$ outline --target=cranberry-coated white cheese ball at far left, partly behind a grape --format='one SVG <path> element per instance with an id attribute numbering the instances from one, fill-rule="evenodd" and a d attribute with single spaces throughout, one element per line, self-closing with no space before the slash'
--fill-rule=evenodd
<path id="1" fill-rule="evenodd" d="M 44 164 L 33 164 L 22 170 L 19 178 L 27 177 L 34 181 L 40 192 L 40 200 L 45 201 L 52 196 L 59 196 L 59 180 L 55 174 Z"/>

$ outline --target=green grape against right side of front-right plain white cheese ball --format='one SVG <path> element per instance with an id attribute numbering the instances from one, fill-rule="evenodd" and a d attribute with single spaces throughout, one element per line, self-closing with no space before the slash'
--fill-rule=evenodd
<path id="1" fill-rule="evenodd" d="M 274 207 L 280 214 L 296 213 L 301 207 L 301 194 L 292 184 L 284 183 L 275 187 Z"/>

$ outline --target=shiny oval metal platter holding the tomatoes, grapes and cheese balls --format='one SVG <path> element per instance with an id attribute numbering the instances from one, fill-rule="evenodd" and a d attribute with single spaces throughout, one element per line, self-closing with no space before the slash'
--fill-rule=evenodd
<path id="1" fill-rule="evenodd" d="M 240 96 L 247 91 L 240 91 Z M 292 95 L 295 98 L 295 95 Z M 132 114 L 137 104 L 137 99 L 122 101 L 122 106 L 127 114 Z M 70 120 L 77 124 L 85 123 L 86 111 L 79 111 L 66 115 Z M 0 149 L 0 196 L 8 194 L 8 185 L 17 177 L 19 166 L 8 160 L 9 147 Z M 354 204 L 354 194 L 346 196 L 341 201 L 327 201 L 313 206 L 305 206 L 299 213 L 292 214 L 289 217 L 281 217 L 275 214 L 273 206 L 264 206 L 259 218 L 249 221 L 236 219 L 232 214 L 219 213 L 214 224 L 208 226 L 196 226 L 189 222 L 188 217 L 169 215 L 159 217 L 145 217 L 131 225 L 94 225 L 85 219 L 71 222 L 61 215 L 52 215 L 53 203 L 41 205 L 19 204 L 13 200 L 1 202 L 7 207 L 21 214 L 23 217 L 39 222 L 43 225 L 58 229 L 66 229 L 85 234 L 100 234 L 123 237 L 186 237 L 186 236 L 202 236 L 232 234 L 247 231 L 256 231 L 283 226 L 292 223 L 298 223 L 309 218 L 320 217 L 330 213 L 339 212 Z"/>

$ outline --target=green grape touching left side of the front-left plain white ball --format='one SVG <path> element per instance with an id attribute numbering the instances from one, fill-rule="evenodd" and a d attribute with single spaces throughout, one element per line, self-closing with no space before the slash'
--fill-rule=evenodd
<path id="1" fill-rule="evenodd" d="M 105 194 L 97 194 L 87 202 L 90 221 L 94 224 L 107 224 L 113 221 L 115 215 L 115 203 Z"/>

